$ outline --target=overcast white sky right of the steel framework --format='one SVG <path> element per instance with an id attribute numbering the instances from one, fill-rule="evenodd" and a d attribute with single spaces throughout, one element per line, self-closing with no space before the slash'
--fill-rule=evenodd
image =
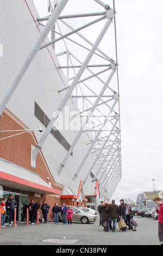
<path id="1" fill-rule="evenodd" d="M 112 7 L 111 0 L 103 2 Z M 46 16 L 47 0 L 34 3 Z M 163 1 L 115 0 L 115 7 L 122 179 L 112 199 L 118 204 L 121 198 L 136 201 L 138 193 L 152 191 L 152 178 L 155 190 L 163 190 Z"/>

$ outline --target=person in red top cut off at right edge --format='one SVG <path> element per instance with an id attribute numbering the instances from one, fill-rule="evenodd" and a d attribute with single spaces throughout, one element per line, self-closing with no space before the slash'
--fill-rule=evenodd
<path id="1" fill-rule="evenodd" d="M 155 210 L 158 213 L 158 235 L 161 245 L 163 245 L 163 202 L 160 197 L 155 197 L 154 202 L 159 206 L 155 206 Z"/>

